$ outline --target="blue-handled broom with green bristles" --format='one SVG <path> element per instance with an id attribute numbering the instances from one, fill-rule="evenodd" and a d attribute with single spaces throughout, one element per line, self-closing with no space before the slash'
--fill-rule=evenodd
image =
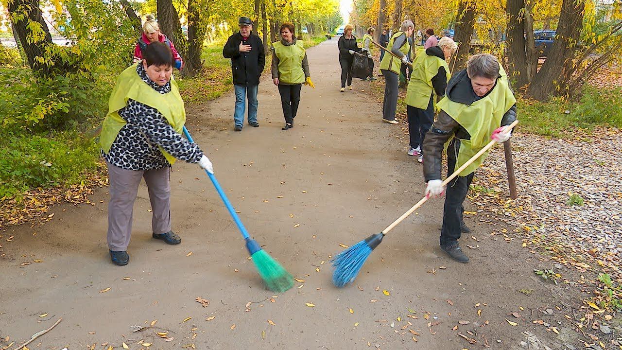
<path id="1" fill-rule="evenodd" d="M 188 133 L 185 126 L 183 127 L 183 133 L 186 135 L 188 141 L 194 143 L 192 136 L 190 136 L 190 133 Z M 265 250 L 263 250 L 256 240 L 251 238 L 251 235 L 248 234 L 246 227 L 242 224 L 238 214 L 235 212 L 235 209 L 227 198 L 225 191 L 223 191 L 220 184 L 218 184 L 216 176 L 214 176 L 214 174 L 210 174 L 207 170 L 205 173 L 208 177 L 210 177 L 211 183 L 214 184 L 216 191 L 220 194 L 220 198 L 223 202 L 225 202 L 225 206 L 227 207 L 227 210 L 229 210 L 229 214 L 231 214 L 231 217 L 233 217 L 236 225 L 238 225 L 238 229 L 242 233 L 242 237 L 246 240 L 246 249 L 248 249 L 248 253 L 251 255 L 251 258 L 255 263 L 259 276 L 261 276 L 262 280 L 264 280 L 267 288 L 271 291 L 279 293 L 292 288 L 292 286 L 294 286 L 294 277 L 292 277 L 289 272 L 285 271 L 279 262 L 274 260 Z"/>

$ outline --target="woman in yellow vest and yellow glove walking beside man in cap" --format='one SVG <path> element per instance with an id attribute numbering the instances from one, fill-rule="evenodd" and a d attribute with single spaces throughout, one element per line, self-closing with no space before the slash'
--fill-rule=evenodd
<path id="1" fill-rule="evenodd" d="M 281 130 L 289 130 L 294 127 L 302 84 L 315 87 L 311 81 L 304 43 L 294 36 L 294 24 L 282 24 L 281 37 L 281 41 L 272 43 L 272 81 L 279 87 L 285 116 L 285 126 Z"/>

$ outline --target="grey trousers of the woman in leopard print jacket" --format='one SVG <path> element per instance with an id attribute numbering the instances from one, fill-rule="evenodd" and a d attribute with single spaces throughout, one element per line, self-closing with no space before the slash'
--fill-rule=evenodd
<path id="1" fill-rule="evenodd" d="M 106 162 L 110 179 L 108 202 L 108 248 L 113 252 L 128 250 L 132 233 L 132 211 L 138 186 L 144 177 L 149 189 L 154 234 L 170 231 L 170 168 L 134 171 Z"/>

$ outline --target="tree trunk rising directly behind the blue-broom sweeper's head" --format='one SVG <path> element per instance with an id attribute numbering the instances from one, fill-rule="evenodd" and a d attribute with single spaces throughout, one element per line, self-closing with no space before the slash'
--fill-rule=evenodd
<path id="1" fill-rule="evenodd" d="M 468 53 L 471 50 L 471 36 L 475 26 L 475 2 L 472 0 L 460 1 L 458 16 L 455 24 L 453 40 L 458 43 L 458 50 L 449 64 L 452 74 L 466 68 Z"/>

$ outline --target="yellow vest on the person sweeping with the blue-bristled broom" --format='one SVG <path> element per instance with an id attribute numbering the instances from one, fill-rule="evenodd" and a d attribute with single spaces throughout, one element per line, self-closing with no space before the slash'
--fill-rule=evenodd
<path id="1" fill-rule="evenodd" d="M 439 102 L 439 107 L 445 111 L 453 120 L 457 121 L 471 135 L 471 140 L 460 140 L 460 151 L 458 151 L 458 159 L 456 166 L 452 171 L 460 168 L 468 159 L 475 156 L 491 139 L 490 136 L 496 128 L 501 125 L 503 115 L 509 111 L 516 103 L 514 93 L 509 88 L 508 75 L 503 68 L 499 68 L 500 78 L 493 90 L 481 100 L 473 102 L 472 105 L 464 105 L 463 103 L 453 102 L 445 96 Z M 455 136 L 453 136 L 455 137 Z M 453 138 L 452 137 L 452 138 Z M 449 146 L 452 139 L 445 143 L 445 150 Z M 464 169 L 460 176 L 467 176 L 473 173 L 483 163 L 490 150 L 476 159 Z"/>

